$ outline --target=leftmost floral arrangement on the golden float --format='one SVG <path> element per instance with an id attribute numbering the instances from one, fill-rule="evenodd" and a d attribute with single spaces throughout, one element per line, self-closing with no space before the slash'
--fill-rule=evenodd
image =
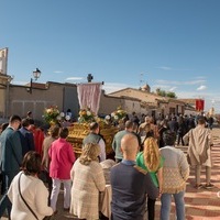
<path id="1" fill-rule="evenodd" d="M 50 124 L 55 124 L 58 122 L 59 113 L 57 106 L 51 106 L 44 109 L 43 119 Z"/>

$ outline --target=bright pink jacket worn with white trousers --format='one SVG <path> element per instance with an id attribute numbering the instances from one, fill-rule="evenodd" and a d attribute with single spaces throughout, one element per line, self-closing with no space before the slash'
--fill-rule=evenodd
<path id="1" fill-rule="evenodd" d="M 59 138 L 52 143 L 48 155 L 51 157 L 50 176 L 58 179 L 70 179 L 70 169 L 76 161 L 73 145 Z"/>

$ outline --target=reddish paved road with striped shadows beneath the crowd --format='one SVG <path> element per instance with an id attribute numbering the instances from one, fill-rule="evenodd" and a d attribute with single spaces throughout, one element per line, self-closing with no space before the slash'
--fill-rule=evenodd
<path id="1" fill-rule="evenodd" d="M 220 128 L 212 130 L 215 145 L 212 150 L 213 168 L 212 168 L 212 183 L 213 189 L 201 188 L 199 190 L 194 188 L 195 178 L 194 172 L 190 172 L 189 179 L 187 182 L 185 201 L 186 201 L 186 220 L 220 220 Z M 184 152 L 187 151 L 187 146 L 177 146 Z M 205 172 L 202 172 L 201 180 L 205 183 Z M 160 219 L 160 200 L 156 201 L 156 218 Z M 63 210 L 63 191 L 61 191 L 57 204 L 58 213 L 54 218 L 55 220 L 76 220 L 67 211 Z M 6 220 L 8 218 L 2 218 Z M 175 206 L 172 204 L 170 220 L 175 220 Z"/>

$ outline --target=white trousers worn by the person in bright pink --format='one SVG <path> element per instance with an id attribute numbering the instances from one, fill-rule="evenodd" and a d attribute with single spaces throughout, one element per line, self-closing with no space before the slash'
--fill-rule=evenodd
<path id="1" fill-rule="evenodd" d="M 70 189 L 72 189 L 72 180 L 70 179 L 52 179 L 53 188 L 51 195 L 51 207 L 54 211 L 56 211 L 56 202 L 58 198 L 58 194 L 61 190 L 62 183 L 64 184 L 64 208 L 68 209 L 70 207 Z"/>

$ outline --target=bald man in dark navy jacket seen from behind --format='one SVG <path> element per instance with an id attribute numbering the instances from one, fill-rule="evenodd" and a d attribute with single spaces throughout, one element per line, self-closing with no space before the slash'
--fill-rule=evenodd
<path id="1" fill-rule="evenodd" d="M 135 165 L 139 142 L 134 134 L 125 134 L 121 140 L 123 160 L 111 168 L 112 187 L 111 219 L 143 220 L 146 195 L 156 199 L 158 189 L 150 174 Z"/>

